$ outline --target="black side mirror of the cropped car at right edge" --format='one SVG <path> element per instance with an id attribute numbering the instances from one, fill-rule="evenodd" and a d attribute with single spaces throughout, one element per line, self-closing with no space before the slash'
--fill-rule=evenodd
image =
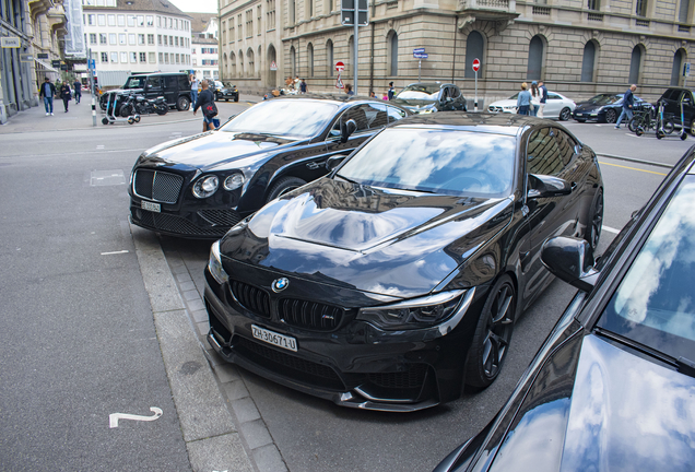
<path id="1" fill-rule="evenodd" d="M 599 278 L 593 269 L 593 249 L 581 238 L 556 236 L 546 239 L 541 262 L 557 279 L 584 292 L 591 292 Z"/>

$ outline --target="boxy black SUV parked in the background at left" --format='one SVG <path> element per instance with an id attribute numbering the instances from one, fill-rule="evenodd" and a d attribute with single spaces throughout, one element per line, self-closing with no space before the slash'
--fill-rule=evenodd
<path id="1" fill-rule="evenodd" d="M 145 98 L 163 96 L 169 107 L 179 111 L 190 108 L 190 80 L 184 72 L 132 74 L 123 90 L 143 94 Z"/>

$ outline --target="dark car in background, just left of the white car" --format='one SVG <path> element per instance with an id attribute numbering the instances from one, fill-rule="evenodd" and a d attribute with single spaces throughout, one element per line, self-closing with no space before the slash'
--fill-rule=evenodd
<path id="1" fill-rule="evenodd" d="M 413 114 L 466 111 L 463 94 L 458 86 L 450 83 L 412 83 L 400 91 L 389 103 L 408 108 Z"/>

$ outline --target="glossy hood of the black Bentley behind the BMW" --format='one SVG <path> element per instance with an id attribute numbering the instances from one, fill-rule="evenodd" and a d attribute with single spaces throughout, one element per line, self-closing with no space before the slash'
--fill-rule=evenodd
<path id="1" fill-rule="evenodd" d="M 242 157 L 263 154 L 296 141 L 254 133 L 213 131 L 167 141 L 145 151 L 138 166 L 175 166 L 208 170 Z"/>

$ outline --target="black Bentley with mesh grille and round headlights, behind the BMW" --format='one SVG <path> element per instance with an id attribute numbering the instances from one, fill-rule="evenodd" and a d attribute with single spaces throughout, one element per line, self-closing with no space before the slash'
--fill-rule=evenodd
<path id="1" fill-rule="evenodd" d="M 266 202 L 326 175 L 331 157 L 350 154 L 407 115 L 348 96 L 262 102 L 216 131 L 143 152 L 130 177 L 131 221 L 167 235 L 216 239 Z"/>

